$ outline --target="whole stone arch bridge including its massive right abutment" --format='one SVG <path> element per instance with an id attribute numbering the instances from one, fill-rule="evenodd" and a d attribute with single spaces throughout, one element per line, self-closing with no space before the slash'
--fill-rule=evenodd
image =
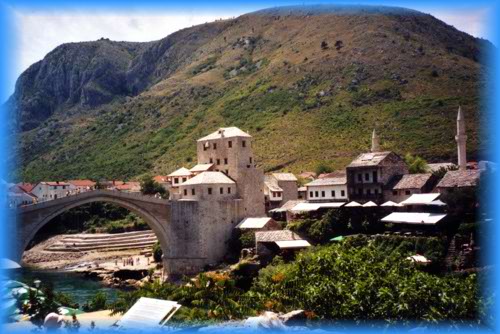
<path id="1" fill-rule="evenodd" d="M 16 211 L 18 261 L 36 233 L 53 218 L 72 208 L 108 202 L 144 219 L 163 250 L 167 275 L 193 274 L 222 259 L 231 231 L 239 220 L 239 205 L 200 201 L 171 201 L 135 193 L 94 190 L 20 207 Z"/>

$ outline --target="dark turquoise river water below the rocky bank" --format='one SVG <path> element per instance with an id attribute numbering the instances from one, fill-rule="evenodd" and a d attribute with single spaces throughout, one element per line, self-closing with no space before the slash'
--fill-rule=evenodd
<path id="1" fill-rule="evenodd" d="M 21 268 L 10 275 L 11 279 L 34 286 L 33 281 L 39 279 L 41 288 L 44 284 L 52 283 L 54 291 L 71 295 L 78 304 L 85 304 L 97 292 L 106 293 L 109 301 L 116 300 L 118 289 L 105 287 L 101 282 L 84 277 L 81 274 L 61 271 L 42 271 Z"/>

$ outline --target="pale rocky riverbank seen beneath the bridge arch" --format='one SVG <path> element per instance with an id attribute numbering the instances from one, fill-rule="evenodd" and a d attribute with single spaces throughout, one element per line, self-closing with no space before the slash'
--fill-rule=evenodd
<path id="1" fill-rule="evenodd" d="M 49 250 L 66 237 L 58 235 L 49 238 L 25 251 L 23 266 L 35 270 L 76 272 L 115 288 L 139 287 L 151 276 L 161 278 L 161 267 L 154 262 L 151 249 Z"/>

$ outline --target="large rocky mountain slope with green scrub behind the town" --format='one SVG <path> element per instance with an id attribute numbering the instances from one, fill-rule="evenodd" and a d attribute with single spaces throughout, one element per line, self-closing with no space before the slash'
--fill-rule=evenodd
<path id="1" fill-rule="evenodd" d="M 265 170 L 343 167 L 382 147 L 455 159 L 455 117 L 479 138 L 482 48 L 415 11 L 284 7 L 194 26 L 162 40 L 61 45 L 9 100 L 18 178 L 133 178 L 195 163 L 195 140 L 234 125 Z"/>

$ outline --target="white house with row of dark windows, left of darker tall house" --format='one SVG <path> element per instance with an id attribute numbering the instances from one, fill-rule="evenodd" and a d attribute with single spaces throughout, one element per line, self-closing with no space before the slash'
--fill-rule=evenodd
<path id="1" fill-rule="evenodd" d="M 317 179 L 305 186 L 309 202 L 346 201 L 348 199 L 345 176 Z"/>

